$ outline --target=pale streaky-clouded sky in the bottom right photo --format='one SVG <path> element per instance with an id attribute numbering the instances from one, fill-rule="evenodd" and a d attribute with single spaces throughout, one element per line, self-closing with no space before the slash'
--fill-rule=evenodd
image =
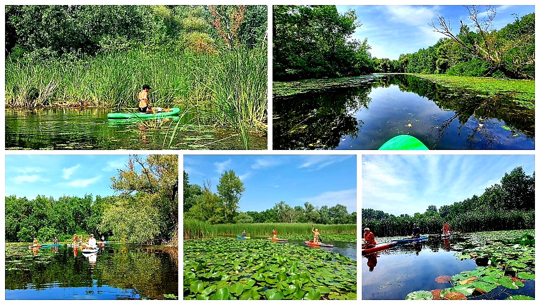
<path id="1" fill-rule="evenodd" d="M 517 166 L 532 175 L 534 155 L 363 155 L 362 208 L 423 213 L 480 196 Z"/>

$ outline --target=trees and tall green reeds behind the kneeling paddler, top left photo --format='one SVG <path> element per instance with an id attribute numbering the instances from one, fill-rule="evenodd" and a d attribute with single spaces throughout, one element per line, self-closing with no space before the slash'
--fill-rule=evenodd
<path id="1" fill-rule="evenodd" d="M 8 5 L 5 105 L 179 106 L 266 130 L 266 6 Z"/>

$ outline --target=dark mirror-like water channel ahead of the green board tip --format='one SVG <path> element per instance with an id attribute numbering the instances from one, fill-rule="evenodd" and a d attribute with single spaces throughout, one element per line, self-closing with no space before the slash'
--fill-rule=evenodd
<path id="1" fill-rule="evenodd" d="M 430 150 L 535 148 L 535 111 L 510 98 L 451 91 L 406 75 L 335 82 L 274 97 L 274 149 L 376 150 L 399 134 Z"/>

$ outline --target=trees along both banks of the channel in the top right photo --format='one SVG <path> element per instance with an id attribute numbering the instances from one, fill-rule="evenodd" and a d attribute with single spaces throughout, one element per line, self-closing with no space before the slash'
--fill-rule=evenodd
<path id="1" fill-rule="evenodd" d="M 450 21 L 437 16 L 430 24 L 444 38 L 399 59 L 376 58 L 367 38 L 351 39 L 356 12 L 341 15 L 334 5 L 274 6 L 274 78 L 359 76 L 375 72 L 448 74 L 455 76 L 535 77 L 535 13 L 515 16 L 501 30 L 491 27 L 496 10 L 465 6 L 471 26 L 454 34 Z M 485 16 L 485 17 L 482 17 Z"/>

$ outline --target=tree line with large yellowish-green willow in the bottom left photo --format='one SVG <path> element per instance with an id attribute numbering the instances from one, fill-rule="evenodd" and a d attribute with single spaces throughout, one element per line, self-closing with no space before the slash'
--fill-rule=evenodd
<path id="1" fill-rule="evenodd" d="M 136 170 L 136 164 L 140 171 Z M 113 196 L 5 197 L 6 242 L 104 235 L 131 243 L 178 242 L 178 156 L 133 155 L 111 177 Z"/>

